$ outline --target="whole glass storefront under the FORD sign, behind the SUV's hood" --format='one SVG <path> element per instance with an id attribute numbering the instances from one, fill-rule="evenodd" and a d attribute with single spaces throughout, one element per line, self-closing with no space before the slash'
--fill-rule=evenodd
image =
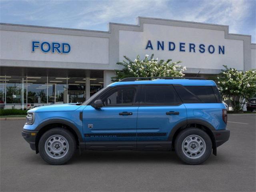
<path id="1" fill-rule="evenodd" d="M 0 76 L 0 108 L 31 109 L 50 104 L 83 103 L 103 85 L 103 78 L 4 75 Z"/>

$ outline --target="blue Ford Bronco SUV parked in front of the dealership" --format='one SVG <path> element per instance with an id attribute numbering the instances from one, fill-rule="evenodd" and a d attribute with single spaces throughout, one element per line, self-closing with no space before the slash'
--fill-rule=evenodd
<path id="1" fill-rule="evenodd" d="M 82 104 L 29 110 L 22 136 L 53 165 L 77 149 L 175 151 L 183 162 L 200 164 L 228 140 L 226 124 L 212 80 L 125 78 Z"/>

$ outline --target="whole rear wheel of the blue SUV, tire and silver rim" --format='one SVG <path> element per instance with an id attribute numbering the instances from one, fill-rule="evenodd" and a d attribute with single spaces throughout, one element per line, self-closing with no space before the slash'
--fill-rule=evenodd
<path id="1" fill-rule="evenodd" d="M 198 128 L 187 128 L 175 140 L 175 152 L 186 164 L 201 164 L 212 152 L 212 141 L 206 132 Z"/>

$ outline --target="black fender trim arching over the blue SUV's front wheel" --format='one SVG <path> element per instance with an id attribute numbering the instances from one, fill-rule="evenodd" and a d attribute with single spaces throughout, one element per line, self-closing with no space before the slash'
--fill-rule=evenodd
<path id="1" fill-rule="evenodd" d="M 79 149 L 85 149 L 85 142 L 84 139 L 82 138 L 82 134 L 80 133 L 79 129 L 72 124 L 71 122 L 67 121 L 67 120 L 63 120 L 63 119 L 50 119 L 50 120 L 46 120 L 44 122 L 42 122 L 41 124 L 39 124 L 35 130 L 40 130 L 41 128 L 50 125 L 50 124 L 65 124 L 67 126 L 69 126 L 72 130 L 74 130 L 74 132 L 76 133 L 77 137 L 78 137 L 78 141 L 79 141 Z"/>

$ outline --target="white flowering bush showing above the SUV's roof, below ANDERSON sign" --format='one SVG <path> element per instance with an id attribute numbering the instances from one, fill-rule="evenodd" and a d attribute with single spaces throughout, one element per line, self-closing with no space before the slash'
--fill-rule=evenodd
<path id="1" fill-rule="evenodd" d="M 182 73 L 186 70 L 186 67 L 179 65 L 181 61 L 171 62 L 171 59 L 167 61 L 154 59 L 154 54 L 149 58 L 145 56 L 143 60 L 140 60 L 138 55 L 134 61 L 124 56 L 123 62 L 117 62 L 116 64 L 124 66 L 122 70 L 116 70 L 116 76 L 112 77 L 112 81 L 119 81 L 127 77 L 182 77 Z"/>

